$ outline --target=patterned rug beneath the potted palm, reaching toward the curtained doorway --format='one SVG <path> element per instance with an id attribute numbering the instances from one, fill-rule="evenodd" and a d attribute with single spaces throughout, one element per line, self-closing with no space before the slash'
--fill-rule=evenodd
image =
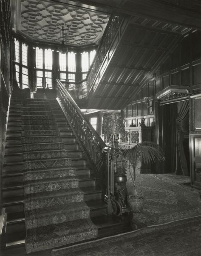
<path id="1" fill-rule="evenodd" d="M 131 193 L 132 184 L 127 183 L 127 188 Z M 170 180 L 166 175 L 137 173 L 136 190 L 145 197 L 144 209 L 133 216 L 137 228 L 201 214 L 199 190 Z"/>

